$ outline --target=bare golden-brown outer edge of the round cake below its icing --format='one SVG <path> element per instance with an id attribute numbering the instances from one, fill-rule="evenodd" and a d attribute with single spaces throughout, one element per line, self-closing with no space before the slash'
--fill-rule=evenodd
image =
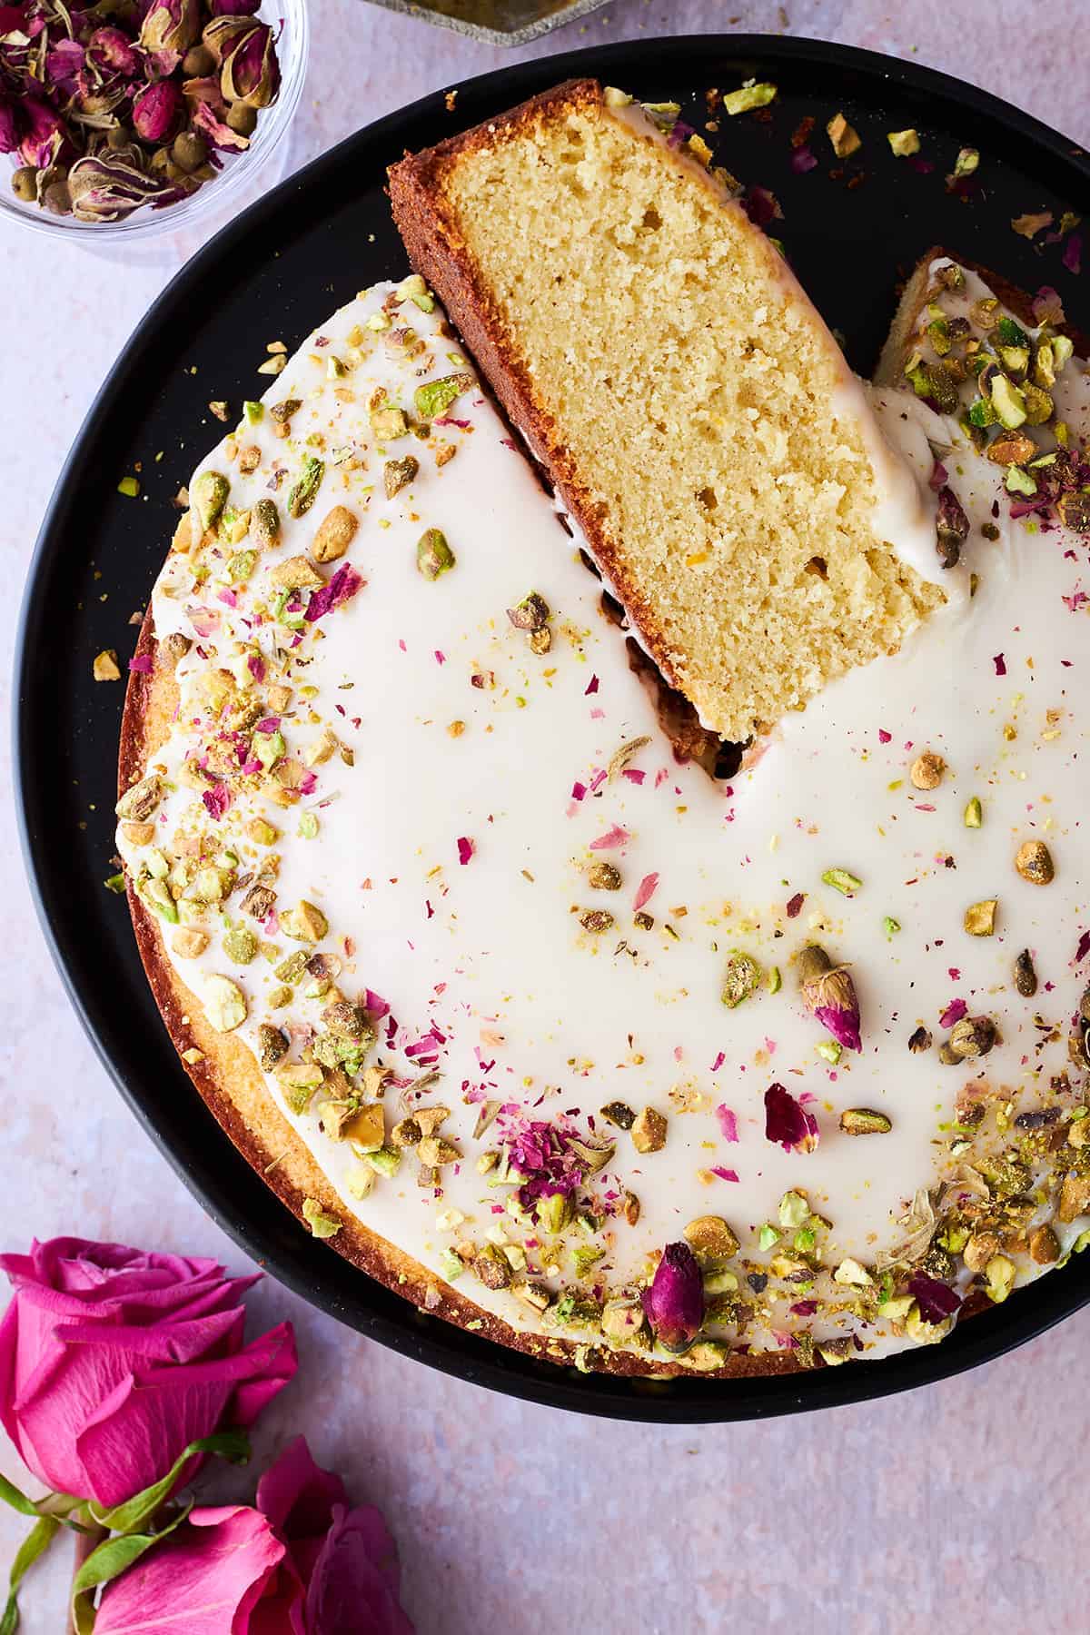
<path id="1" fill-rule="evenodd" d="M 136 654 L 137 657 L 149 656 L 152 669 L 149 674 L 129 672 L 118 757 L 119 795 L 144 777 L 157 747 L 167 739 L 178 700 L 173 670 L 160 654 L 155 639 L 150 608 L 141 626 Z M 180 1058 L 186 1050 L 203 1051 L 201 1061 L 188 1063 L 183 1059 L 185 1071 L 221 1128 L 279 1202 L 302 1221 L 304 1198 L 315 1198 L 325 1213 L 343 1221 L 337 1236 L 328 1239 L 330 1248 L 376 1282 L 384 1283 L 386 1288 L 410 1300 L 422 1311 L 471 1329 L 498 1346 L 570 1367 L 577 1351 L 580 1351 L 575 1342 L 513 1329 L 428 1272 L 395 1244 L 379 1238 L 355 1216 L 346 1215 L 342 1200 L 319 1169 L 309 1148 L 268 1094 L 250 1050 L 235 1035 L 217 1033 L 204 1020 L 199 1001 L 178 978 L 163 950 L 160 922 L 131 885 L 127 899 L 144 971 L 167 1032 Z M 683 1368 L 678 1364 L 660 1360 L 652 1364 L 637 1352 L 606 1347 L 593 1347 L 588 1362 L 595 1372 L 624 1377 L 654 1375 L 657 1378 L 672 1375 L 753 1378 L 802 1372 L 789 1354 L 747 1355 L 737 1352 L 730 1355 L 724 1368 L 701 1375 L 695 1375 L 691 1368 Z"/>

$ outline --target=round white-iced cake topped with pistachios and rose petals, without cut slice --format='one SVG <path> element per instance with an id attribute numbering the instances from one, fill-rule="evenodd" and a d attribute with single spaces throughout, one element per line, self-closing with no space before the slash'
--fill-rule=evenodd
<path id="1" fill-rule="evenodd" d="M 936 495 L 941 600 L 730 778 L 422 276 L 193 476 L 124 718 L 141 950 L 250 1162 L 428 1311 L 730 1377 L 1082 1246 L 1087 381 L 948 257 L 910 294 L 860 437 Z"/>

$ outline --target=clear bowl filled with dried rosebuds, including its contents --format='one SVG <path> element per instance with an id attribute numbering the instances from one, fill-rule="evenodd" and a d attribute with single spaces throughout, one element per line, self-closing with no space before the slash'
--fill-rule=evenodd
<path id="1" fill-rule="evenodd" d="M 307 44 L 306 0 L 0 0 L 0 213 L 93 237 L 193 226 L 281 149 Z"/>

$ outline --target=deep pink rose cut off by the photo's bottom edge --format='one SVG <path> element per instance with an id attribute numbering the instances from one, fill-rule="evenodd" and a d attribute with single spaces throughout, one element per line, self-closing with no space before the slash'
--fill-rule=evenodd
<path id="1" fill-rule="evenodd" d="M 194 1509 L 103 1594 L 95 1635 L 413 1635 L 379 1511 L 351 1507 L 304 1437 L 257 1509 Z"/>

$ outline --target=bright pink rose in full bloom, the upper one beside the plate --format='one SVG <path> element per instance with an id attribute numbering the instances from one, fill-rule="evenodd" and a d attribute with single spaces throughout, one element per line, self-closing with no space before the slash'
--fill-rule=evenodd
<path id="1" fill-rule="evenodd" d="M 59 1493 L 132 1498 L 190 1442 L 252 1424 L 296 1373 L 289 1323 L 243 1344 L 240 1298 L 260 1274 L 82 1238 L 34 1241 L 0 1267 L 15 1285 L 0 1319 L 0 1421 Z"/>

